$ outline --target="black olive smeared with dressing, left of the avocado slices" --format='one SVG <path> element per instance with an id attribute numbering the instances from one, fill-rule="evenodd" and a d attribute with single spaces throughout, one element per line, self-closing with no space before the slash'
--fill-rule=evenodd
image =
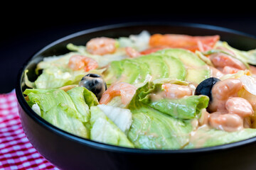
<path id="1" fill-rule="evenodd" d="M 107 84 L 98 74 L 87 74 L 82 77 L 78 86 L 83 86 L 86 89 L 92 91 L 98 100 L 102 97 L 102 94 L 107 90 Z"/>

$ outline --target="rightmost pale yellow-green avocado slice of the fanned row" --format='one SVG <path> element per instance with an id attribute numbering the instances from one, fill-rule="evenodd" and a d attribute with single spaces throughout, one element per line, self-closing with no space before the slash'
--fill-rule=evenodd
<path id="1" fill-rule="evenodd" d="M 204 79 L 210 77 L 210 68 L 193 52 L 179 48 L 170 48 L 160 50 L 155 52 L 155 54 L 173 56 L 181 60 L 186 67 L 186 81 L 199 84 Z"/>

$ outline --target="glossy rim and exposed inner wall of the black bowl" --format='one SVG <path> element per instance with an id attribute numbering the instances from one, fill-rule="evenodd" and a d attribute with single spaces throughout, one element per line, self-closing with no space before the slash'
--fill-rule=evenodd
<path id="1" fill-rule="evenodd" d="M 252 35 L 247 35 L 245 33 L 240 33 L 235 30 L 230 30 L 226 28 L 219 28 L 215 26 L 206 26 L 192 23 L 124 23 L 118 24 L 114 26 L 104 26 L 100 28 L 92 28 L 90 30 L 83 30 L 78 33 L 74 33 L 72 35 L 68 35 L 65 38 L 61 38 L 50 45 L 47 45 L 42 50 L 37 52 L 31 58 L 29 58 L 21 68 L 18 74 L 18 83 L 16 86 L 16 94 L 18 98 L 18 102 L 21 104 L 21 107 L 26 111 L 31 118 L 41 123 L 46 128 L 50 128 L 51 130 L 55 130 L 60 135 L 65 135 L 65 137 L 70 137 L 73 140 L 79 140 L 79 142 L 85 142 L 87 145 L 98 144 L 97 147 L 109 147 L 111 149 L 119 149 L 119 147 L 100 144 L 97 142 L 91 142 L 86 139 L 82 139 L 81 137 L 76 137 L 75 135 L 71 135 L 68 132 L 64 132 L 58 128 L 55 128 L 50 123 L 47 123 L 46 120 L 39 117 L 36 113 L 34 113 L 31 108 L 29 108 L 25 99 L 23 98 L 22 92 L 28 88 L 24 84 L 24 74 L 23 71 L 28 69 L 28 79 L 31 81 L 36 80 L 37 76 L 34 72 L 36 68 L 36 64 L 43 60 L 43 57 L 49 57 L 53 55 L 63 55 L 67 52 L 66 45 L 68 43 L 73 43 L 75 45 L 85 45 L 88 40 L 95 37 L 111 37 L 111 38 L 119 38 L 119 37 L 127 37 L 131 34 L 139 34 L 142 30 L 148 30 L 149 33 L 171 33 L 171 34 L 186 34 L 186 35 L 220 35 L 220 40 L 227 41 L 231 46 L 238 48 L 239 50 L 252 50 L 256 48 L 256 39 Z M 247 142 L 255 141 L 256 137 L 253 139 L 235 142 L 229 145 L 222 145 L 212 147 L 212 149 L 220 149 L 223 147 L 233 147 L 245 144 Z M 199 151 L 200 149 L 192 149 L 193 151 Z M 203 151 L 205 149 L 201 149 Z M 132 149 L 126 149 L 126 151 L 132 151 Z M 141 151 L 140 151 L 141 152 Z M 148 152 L 148 151 L 145 151 Z M 164 152 L 164 151 L 159 151 Z M 180 152 L 189 152 L 189 151 L 180 151 Z"/>

